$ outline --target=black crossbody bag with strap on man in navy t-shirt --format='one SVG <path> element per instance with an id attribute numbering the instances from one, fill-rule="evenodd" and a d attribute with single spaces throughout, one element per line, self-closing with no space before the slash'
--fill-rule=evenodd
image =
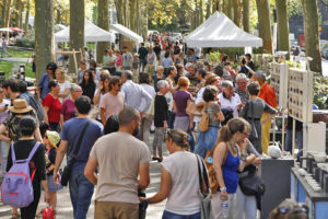
<path id="1" fill-rule="evenodd" d="M 71 175 L 71 172 L 72 172 L 72 168 L 73 168 L 73 164 L 74 164 L 74 161 L 78 157 L 78 153 L 79 153 L 79 150 L 80 150 L 80 147 L 81 147 L 81 143 L 82 143 L 82 138 L 84 136 L 84 132 L 86 130 L 86 127 L 89 126 L 89 124 L 91 123 L 91 120 L 89 119 L 87 123 L 84 125 L 83 129 L 82 129 L 82 132 L 80 134 L 80 137 L 79 137 L 79 140 L 78 140 L 78 145 L 73 151 L 73 154 L 72 154 L 72 160 L 63 168 L 63 171 L 61 173 L 61 178 L 60 178 L 60 184 L 62 186 L 67 186 L 69 180 L 70 180 L 70 175 Z"/>

